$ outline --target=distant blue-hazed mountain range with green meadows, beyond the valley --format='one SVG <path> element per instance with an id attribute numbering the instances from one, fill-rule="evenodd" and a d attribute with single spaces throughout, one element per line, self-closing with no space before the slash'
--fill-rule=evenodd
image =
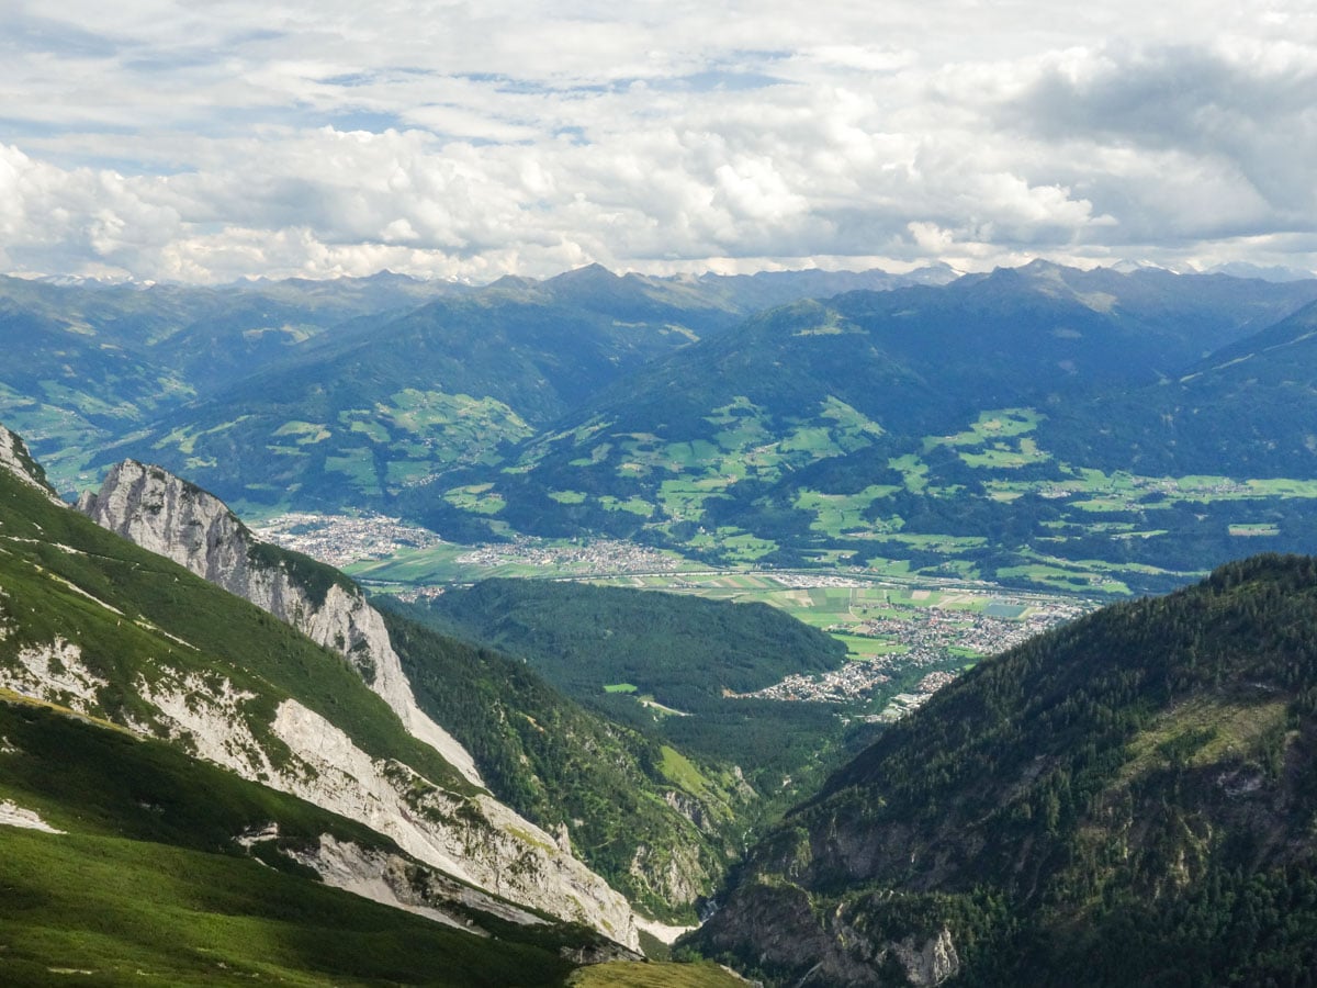
<path id="1" fill-rule="evenodd" d="M 1308 544 L 1314 299 L 1313 279 L 1046 262 L 8 279 L 0 415 L 65 490 L 130 456 L 240 508 L 369 507 L 456 540 L 610 535 L 1123 593 L 1241 539 Z"/>

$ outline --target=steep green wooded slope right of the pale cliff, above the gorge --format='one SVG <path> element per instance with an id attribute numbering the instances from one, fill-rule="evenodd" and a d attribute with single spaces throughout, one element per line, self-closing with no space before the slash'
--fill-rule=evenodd
<path id="1" fill-rule="evenodd" d="M 385 603 L 385 602 L 382 602 Z M 727 764 L 601 717 L 536 665 L 468 645 L 386 606 L 421 709 L 471 752 L 500 800 L 572 848 L 644 912 L 693 922 L 740 854 L 761 797 Z"/>

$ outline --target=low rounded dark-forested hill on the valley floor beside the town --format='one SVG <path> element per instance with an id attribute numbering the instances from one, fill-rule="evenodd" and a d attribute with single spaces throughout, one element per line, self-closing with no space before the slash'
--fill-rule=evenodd
<path id="1" fill-rule="evenodd" d="M 846 647 L 766 605 L 540 580 L 487 580 L 412 611 L 524 659 L 568 696 L 768 796 L 802 792 L 843 726 L 819 703 L 739 694 L 834 669 Z"/>

